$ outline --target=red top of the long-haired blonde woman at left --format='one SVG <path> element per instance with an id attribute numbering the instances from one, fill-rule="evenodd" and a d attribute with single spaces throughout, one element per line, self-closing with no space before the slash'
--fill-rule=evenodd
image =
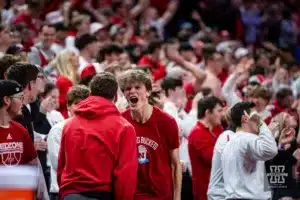
<path id="1" fill-rule="evenodd" d="M 56 86 L 59 90 L 59 108 L 58 111 L 68 118 L 68 109 L 67 109 L 67 93 L 69 89 L 73 86 L 73 83 L 70 79 L 64 76 L 59 76 L 56 81 Z"/>

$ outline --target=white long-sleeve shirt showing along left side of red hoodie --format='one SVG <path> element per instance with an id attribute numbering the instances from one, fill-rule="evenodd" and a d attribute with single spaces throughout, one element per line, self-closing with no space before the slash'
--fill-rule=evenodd
<path id="1" fill-rule="evenodd" d="M 50 192 L 51 193 L 58 193 L 59 188 L 57 184 L 57 163 L 58 163 L 58 153 L 60 148 L 60 141 L 61 141 L 61 134 L 64 128 L 64 125 L 68 119 L 55 124 L 47 138 L 48 143 L 48 154 L 49 154 L 49 161 L 50 161 L 50 177 L 51 177 L 51 184 L 50 184 Z"/>

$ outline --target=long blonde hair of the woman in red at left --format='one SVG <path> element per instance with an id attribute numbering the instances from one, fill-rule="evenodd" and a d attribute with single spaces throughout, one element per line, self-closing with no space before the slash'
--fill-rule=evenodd
<path id="1" fill-rule="evenodd" d="M 72 66 L 71 63 L 72 55 L 72 51 L 64 50 L 59 53 L 49 65 L 56 69 L 59 75 L 67 77 L 73 84 L 76 84 L 79 81 L 79 77 L 75 67 Z"/>

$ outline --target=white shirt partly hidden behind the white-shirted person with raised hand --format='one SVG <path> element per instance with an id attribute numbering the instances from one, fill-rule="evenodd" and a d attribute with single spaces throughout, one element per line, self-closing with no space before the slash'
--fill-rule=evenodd
<path id="1" fill-rule="evenodd" d="M 208 200 L 224 200 L 226 197 L 222 169 L 222 154 L 226 144 L 233 135 L 234 132 L 230 130 L 224 131 L 218 137 L 218 140 L 215 144 L 207 191 Z"/>

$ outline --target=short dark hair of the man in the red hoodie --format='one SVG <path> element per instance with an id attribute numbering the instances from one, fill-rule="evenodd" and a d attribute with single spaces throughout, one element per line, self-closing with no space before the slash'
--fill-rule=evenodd
<path id="1" fill-rule="evenodd" d="M 109 72 L 96 74 L 90 82 L 91 95 L 113 100 L 118 91 L 116 77 Z"/>

